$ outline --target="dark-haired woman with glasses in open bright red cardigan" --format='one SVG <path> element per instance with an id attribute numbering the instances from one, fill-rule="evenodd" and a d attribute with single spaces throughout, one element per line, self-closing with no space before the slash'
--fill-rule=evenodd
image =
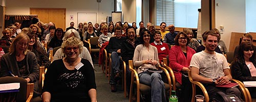
<path id="1" fill-rule="evenodd" d="M 175 45 L 169 50 L 169 66 L 174 71 L 176 87 L 181 89 L 180 96 L 178 94 L 179 101 L 190 101 L 192 90 L 187 71 L 191 58 L 196 52 L 188 46 L 190 41 L 184 32 L 178 33 L 174 42 Z"/>

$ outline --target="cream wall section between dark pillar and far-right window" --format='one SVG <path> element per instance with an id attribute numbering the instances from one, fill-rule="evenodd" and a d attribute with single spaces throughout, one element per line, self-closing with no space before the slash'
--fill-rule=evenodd
<path id="1" fill-rule="evenodd" d="M 217 6 L 217 4 L 219 6 Z M 245 29 L 245 1 L 241 0 L 216 0 L 216 28 L 224 26 L 224 32 L 221 35 L 229 49 L 231 32 L 246 32 Z"/>

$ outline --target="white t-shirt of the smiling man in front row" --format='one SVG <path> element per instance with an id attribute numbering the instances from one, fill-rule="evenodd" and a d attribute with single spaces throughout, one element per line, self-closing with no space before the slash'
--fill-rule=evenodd
<path id="1" fill-rule="evenodd" d="M 218 79 L 224 76 L 224 69 L 229 68 L 225 56 L 216 53 L 210 55 L 204 51 L 196 53 L 191 58 L 190 67 L 199 69 L 199 75 L 209 79 Z"/>

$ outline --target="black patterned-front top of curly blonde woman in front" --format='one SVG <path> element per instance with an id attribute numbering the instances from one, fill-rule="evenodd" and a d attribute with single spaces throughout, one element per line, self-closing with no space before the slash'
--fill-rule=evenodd
<path id="1" fill-rule="evenodd" d="M 81 59 L 78 70 L 69 70 L 62 59 L 55 60 L 48 68 L 42 92 L 51 93 L 51 101 L 90 101 L 88 91 L 96 89 L 92 64 Z"/>

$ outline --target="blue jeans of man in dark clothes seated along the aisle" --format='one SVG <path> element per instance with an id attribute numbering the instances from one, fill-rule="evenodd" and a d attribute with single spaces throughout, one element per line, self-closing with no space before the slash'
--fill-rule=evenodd
<path id="1" fill-rule="evenodd" d="M 117 79 L 114 79 L 116 73 L 120 73 L 120 64 L 121 63 L 121 56 L 117 54 L 117 52 L 111 53 L 111 75 L 110 75 L 110 85 L 116 85 Z"/>

